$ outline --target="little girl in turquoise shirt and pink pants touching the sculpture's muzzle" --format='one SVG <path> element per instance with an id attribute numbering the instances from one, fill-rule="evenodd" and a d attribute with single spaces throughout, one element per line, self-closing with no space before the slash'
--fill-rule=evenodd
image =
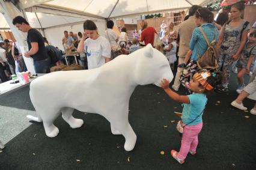
<path id="1" fill-rule="evenodd" d="M 162 80 L 161 87 L 173 100 L 183 103 L 182 126 L 184 128 L 180 151 L 171 150 L 171 156 L 179 163 L 184 163 L 187 153 L 194 155 L 198 145 L 198 134 L 203 127 L 202 115 L 206 107 L 207 97 L 205 91 L 211 91 L 216 83 L 221 83 L 219 73 L 200 71 L 194 74 L 189 82 L 189 89 L 193 94 L 180 96 L 169 88 L 169 82 Z"/>

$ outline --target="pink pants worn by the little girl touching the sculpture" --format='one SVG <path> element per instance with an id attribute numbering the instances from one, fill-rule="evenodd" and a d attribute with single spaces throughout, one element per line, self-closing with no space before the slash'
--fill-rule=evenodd
<path id="1" fill-rule="evenodd" d="M 203 122 L 198 123 L 196 125 L 185 126 L 184 132 L 181 139 L 181 147 L 180 151 L 178 152 L 179 159 L 186 159 L 187 153 L 190 151 L 197 150 L 198 144 L 198 134 L 201 132 L 203 127 Z"/>

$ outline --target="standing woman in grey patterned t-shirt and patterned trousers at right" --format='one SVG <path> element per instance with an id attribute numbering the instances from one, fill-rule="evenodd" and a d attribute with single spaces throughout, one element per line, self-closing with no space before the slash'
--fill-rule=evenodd
<path id="1" fill-rule="evenodd" d="M 231 5 L 230 21 L 224 24 L 219 35 L 217 44 L 218 49 L 221 49 L 221 57 L 219 58 L 219 68 L 224 73 L 222 85 L 217 88 L 217 91 L 227 92 L 228 81 L 230 78 L 229 68 L 234 61 L 240 58 L 243 46 L 246 43 L 246 36 L 249 31 L 249 24 L 242 19 L 245 4 L 237 2 Z"/>

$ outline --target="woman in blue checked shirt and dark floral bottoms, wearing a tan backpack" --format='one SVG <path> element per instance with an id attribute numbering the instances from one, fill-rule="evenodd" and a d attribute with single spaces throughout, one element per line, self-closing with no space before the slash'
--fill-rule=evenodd
<path id="1" fill-rule="evenodd" d="M 195 12 L 195 23 L 200 25 L 200 27 L 194 29 L 189 44 L 189 51 L 185 56 L 184 63 L 178 65 L 178 67 L 185 67 L 189 59 L 192 60 L 189 63 L 190 69 L 188 70 L 188 73 L 186 73 L 186 75 L 183 74 L 180 77 L 180 82 L 185 87 L 189 84 L 190 76 L 192 76 L 198 69 L 198 58 L 203 56 L 208 49 L 208 44 L 204 38 L 203 32 L 206 34 L 209 42 L 212 42 L 213 40 L 218 41 L 218 29 L 213 24 L 213 13 L 208 10 L 208 8 L 199 8 Z M 203 32 L 201 29 L 203 29 Z"/>

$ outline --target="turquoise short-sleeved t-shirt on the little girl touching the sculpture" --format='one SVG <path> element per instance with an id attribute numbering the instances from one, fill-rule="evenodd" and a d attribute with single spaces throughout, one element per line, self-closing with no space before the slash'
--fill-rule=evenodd
<path id="1" fill-rule="evenodd" d="M 206 94 L 203 94 L 203 93 L 194 93 L 194 94 L 190 94 L 187 97 L 189 97 L 190 103 L 182 104 L 183 111 L 182 111 L 181 120 L 182 120 L 183 124 L 188 124 L 191 121 L 193 121 L 195 118 L 197 118 L 198 115 L 200 115 L 203 112 L 204 107 L 206 106 L 206 102 L 207 102 Z M 201 123 L 203 121 L 202 115 L 203 114 L 201 114 L 196 120 L 194 120 L 188 126 Z"/>

